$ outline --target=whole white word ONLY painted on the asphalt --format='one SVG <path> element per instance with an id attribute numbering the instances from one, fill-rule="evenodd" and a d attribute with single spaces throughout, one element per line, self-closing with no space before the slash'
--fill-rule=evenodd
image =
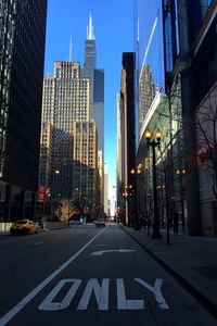
<path id="1" fill-rule="evenodd" d="M 141 278 L 135 278 L 135 280 L 139 283 L 143 288 L 148 289 L 154 294 L 154 298 L 161 309 L 169 309 L 161 291 L 162 284 L 163 284 L 162 278 L 157 278 L 154 283 L 154 286 L 149 285 L 146 281 L 144 281 Z M 62 299 L 61 302 L 54 301 L 59 292 L 67 283 L 73 283 L 73 285 L 67 291 L 67 293 L 65 294 L 65 297 Z M 80 284 L 81 284 L 81 279 L 77 279 L 77 278 L 62 279 L 54 287 L 54 289 L 48 294 L 48 297 L 41 302 L 38 309 L 43 311 L 59 311 L 68 308 Z M 88 309 L 92 293 L 94 293 L 95 296 L 98 310 L 108 310 L 108 286 L 110 286 L 110 278 L 103 278 L 102 285 L 100 285 L 97 278 L 90 278 L 81 296 L 77 310 Z M 125 284 L 123 278 L 116 279 L 116 287 L 117 287 L 117 310 L 145 309 L 144 300 L 129 300 L 126 298 Z"/>

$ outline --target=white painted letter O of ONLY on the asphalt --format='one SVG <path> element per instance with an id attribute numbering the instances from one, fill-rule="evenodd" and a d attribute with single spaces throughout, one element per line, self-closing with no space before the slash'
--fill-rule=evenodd
<path id="1" fill-rule="evenodd" d="M 68 292 L 66 293 L 66 296 L 63 298 L 61 302 L 56 302 L 56 301 L 53 302 L 53 299 L 56 297 L 56 294 L 60 292 L 60 290 L 64 287 L 66 283 L 73 283 Z M 55 310 L 63 310 L 68 308 L 80 284 L 81 284 L 81 279 L 75 279 L 75 278 L 62 279 L 54 287 L 54 289 L 48 294 L 48 297 L 41 302 L 38 309 L 46 310 L 46 311 L 55 311 Z"/>

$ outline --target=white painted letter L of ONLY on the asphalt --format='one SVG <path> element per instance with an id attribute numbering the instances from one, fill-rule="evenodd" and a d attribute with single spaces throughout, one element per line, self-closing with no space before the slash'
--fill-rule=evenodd
<path id="1" fill-rule="evenodd" d="M 143 300 L 127 300 L 123 278 L 117 278 L 117 309 L 118 310 L 139 310 L 144 309 Z"/>

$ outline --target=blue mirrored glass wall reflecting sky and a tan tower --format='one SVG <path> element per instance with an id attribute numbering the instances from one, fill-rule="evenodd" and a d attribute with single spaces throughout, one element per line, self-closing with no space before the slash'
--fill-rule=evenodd
<path id="1" fill-rule="evenodd" d="M 141 126 L 156 90 L 164 90 L 162 1 L 135 1 L 136 54 L 136 134 Z"/>

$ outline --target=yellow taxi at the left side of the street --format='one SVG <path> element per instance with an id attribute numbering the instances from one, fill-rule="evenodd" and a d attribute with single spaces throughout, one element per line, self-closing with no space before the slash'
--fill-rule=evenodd
<path id="1" fill-rule="evenodd" d="M 18 234 L 30 235 L 37 233 L 38 233 L 38 225 L 30 220 L 15 221 L 14 223 L 12 223 L 12 226 L 10 228 L 10 234 L 12 236 Z"/>

